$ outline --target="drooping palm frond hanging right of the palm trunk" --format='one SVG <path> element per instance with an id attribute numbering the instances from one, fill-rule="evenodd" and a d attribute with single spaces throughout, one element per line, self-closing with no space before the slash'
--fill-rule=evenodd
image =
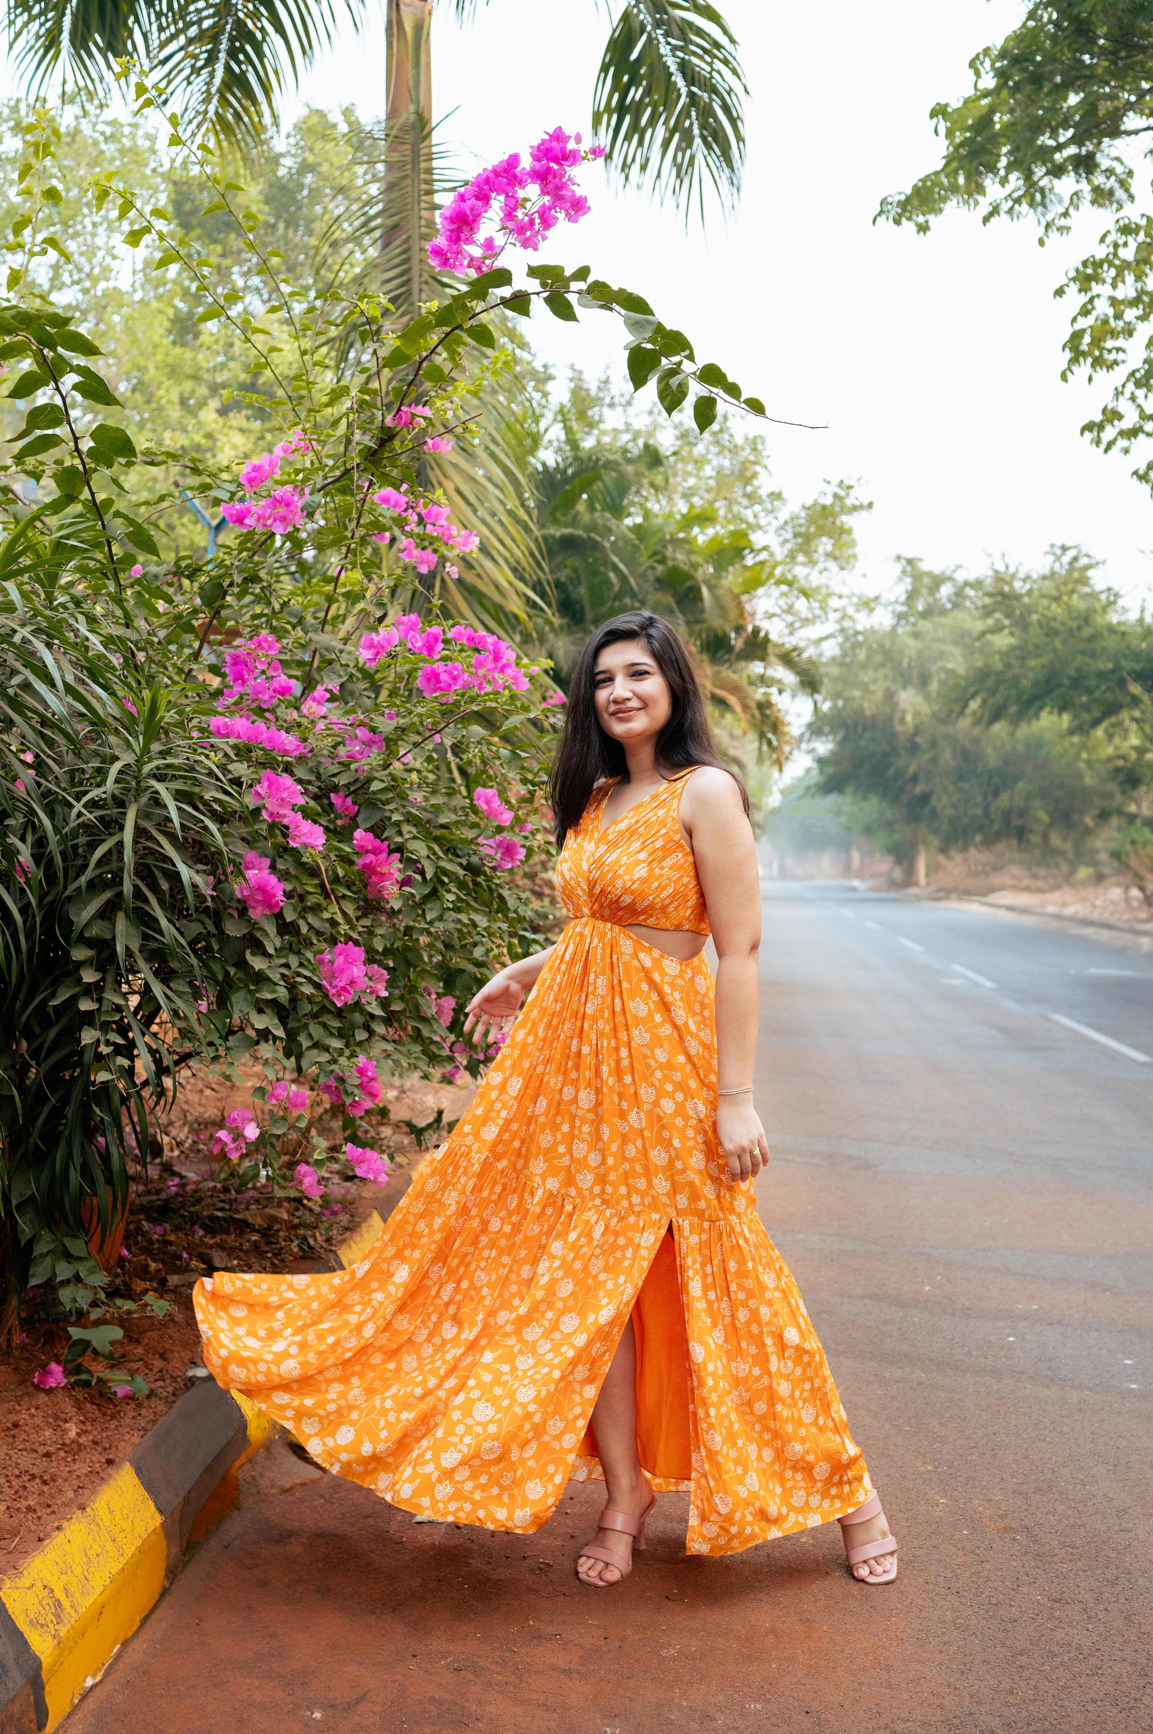
<path id="1" fill-rule="evenodd" d="M 704 215 L 706 182 L 735 201 L 749 94 L 737 38 L 707 0 L 628 0 L 612 28 L 593 92 L 593 132 L 605 161 L 661 199 Z"/>

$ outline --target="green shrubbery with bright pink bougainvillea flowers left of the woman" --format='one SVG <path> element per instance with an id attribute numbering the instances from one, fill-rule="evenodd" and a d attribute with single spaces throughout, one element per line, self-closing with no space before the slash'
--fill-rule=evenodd
<path id="1" fill-rule="evenodd" d="M 160 101 L 137 81 L 142 108 Z M 14 1295 L 55 1280 L 92 1297 L 83 1235 L 121 1210 L 128 1151 L 147 1151 L 182 1066 L 258 1059 L 253 1111 L 217 1157 L 298 1196 L 324 1174 L 381 1181 L 364 1113 L 387 1073 L 459 1075 L 463 1006 L 494 964 L 539 943 L 517 869 L 548 848 L 539 805 L 558 694 L 458 596 L 477 532 L 453 522 L 428 454 L 468 440 L 499 355 L 498 323 L 574 303 L 622 317 L 635 385 L 655 375 L 674 413 L 690 383 L 707 428 L 720 368 L 640 297 L 588 267 L 531 265 L 586 210 L 579 140 L 550 134 L 444 213 L 440 305 L 397 328 L 373 295 L 317 297 L 279 274 L 258 218 L 170 116 L 172 147 L 205 179 L 264 267 L 246 305 L 213 262 L 116 177 L 125 243 L 147 234 L 186 271 L 203 321 L 251 350 L 250 414 L 267 449 L 239 473 L 194 468 L 231 524 L 212 565 L 161 560 L 170 494 L 149 475 L 182 454 L 140 449 L 114 380 L 66 309 L 36 291 L 59 243 L 52 125 L 29 127 L 12 225 L 0 361 L 26 420 L 0 506 L 0 1257 Z M 482 231 L 487 227 L 487 236 Z M 472 276 L 468 276 L 472 272 Z M 756 399 L 746 401 L 761 414 Z M 317 1110 L 343 1111 L 328 1148 Z"/>

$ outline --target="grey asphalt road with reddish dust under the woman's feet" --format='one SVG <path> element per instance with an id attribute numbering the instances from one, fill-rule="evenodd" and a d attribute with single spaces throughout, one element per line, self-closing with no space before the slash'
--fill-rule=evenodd
<path id="1" fill-rule="evenodd" d="M 673 1495 L 633 1576 L 583 1590 L 593 1486 L 491 1536 L 276 1446 L 69 1734 L 1153 1729 L 1153 950 L 853 886 L 765 898 L 761 1212 L 896 1583 L 850 1580 L 836 1526 L 685 1559 Z"/>

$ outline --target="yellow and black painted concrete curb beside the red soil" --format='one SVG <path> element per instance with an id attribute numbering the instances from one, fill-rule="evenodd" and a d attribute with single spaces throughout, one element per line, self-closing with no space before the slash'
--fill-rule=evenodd
<path id="1" fill-rule="evenodd" d="M 387 1200 L 401 1202 L 409 1176 Z M 381 1200 L 383 1202 L 383 1200 Z M 383 1229 L 376 1210 L 336 1247 L 345 1269 Z M 0 1734 L 50 1734 L 101 1677 L 236 1502 L 239 1470 L 276 1432 L 206 1379 L 146 1434 L 85 1510 L 0 1590 Z"/>

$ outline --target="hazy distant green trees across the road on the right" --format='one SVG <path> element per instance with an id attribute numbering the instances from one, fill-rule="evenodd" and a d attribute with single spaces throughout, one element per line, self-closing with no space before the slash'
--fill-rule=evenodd
<path id="1" fill-rule="evenodd" d="M 1094 570 L 1078 548 L 980 579 L 903 560 L 886 619 L 824 664 L 810 827 L 836 798 L 825 824 L 910 876 L 969 848 L 1113 857 L 1153 902 L 1153 623 Z"/>

